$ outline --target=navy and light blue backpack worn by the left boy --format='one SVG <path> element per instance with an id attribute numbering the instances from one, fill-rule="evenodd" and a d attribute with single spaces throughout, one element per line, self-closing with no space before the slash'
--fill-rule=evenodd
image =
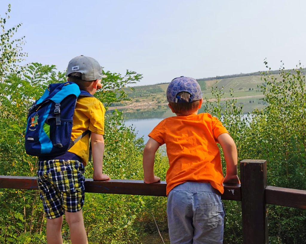
<path id="1" fill-rule="evenodd" d="M 73 113 L 79 96 L 93 97 L 73 82 L 50 84 L 29 109 L 25 132 L 25 151 L 32 156 L 59 156 L 77 141 L 71 140 Z"/>

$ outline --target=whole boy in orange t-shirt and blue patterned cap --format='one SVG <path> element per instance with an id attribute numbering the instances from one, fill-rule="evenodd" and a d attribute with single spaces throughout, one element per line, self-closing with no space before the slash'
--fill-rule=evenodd
<path id="1" fill-rule="evenodd" d="M 149 134 L 144 148 L 144 182 L 154 175 L 155 152 L 166 144 L 168 228 L 171 244 L 222 243 L 225 210 L 221 201 L 223 182 L 239 184 L 237 148 L 226 128 L 209 113 L 200 113 L 200 85 L 190 77 L 174 78 L 167 89 L 174 117 L 162 120 Z M 223 177 L 220 152 L 226 160 Z"/>

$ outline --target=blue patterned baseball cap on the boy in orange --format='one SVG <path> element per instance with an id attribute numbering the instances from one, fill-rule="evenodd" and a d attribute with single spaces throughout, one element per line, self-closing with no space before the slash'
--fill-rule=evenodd
<path id="1" fill-rule="evenodd" d="M 181 99 L 178 93 L 186 91 L 190 94 L 189 101 Z M 202 91 L 199 83 L 191 77 L 177 77 L 174 78 L 167 88 L 168 102 L 194 102 L 202 98 Z"/>

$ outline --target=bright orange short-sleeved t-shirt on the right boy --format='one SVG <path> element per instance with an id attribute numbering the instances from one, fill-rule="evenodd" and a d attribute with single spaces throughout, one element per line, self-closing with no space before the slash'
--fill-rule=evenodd
<path id="1" fill-rule="evenodd" d="M 221 194 L 223 172 L 217 138 L 228 133 L 209 113 L 174 116 L 162 120 L 149 137 L 166 144 L 169 169 L 166 194 L 186 181 L 209 182 Z"/>

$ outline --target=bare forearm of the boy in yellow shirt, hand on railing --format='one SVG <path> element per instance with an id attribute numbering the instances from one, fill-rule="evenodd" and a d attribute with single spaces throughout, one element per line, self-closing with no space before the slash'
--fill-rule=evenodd
<path id="1" fill-rule="evenodd" d="M 92 161 L 94 164 L 95 181 L 109 180 L 110 177 L 102 173 L 103 154 L 104 154 L 104 138 L 103 135 L 91 132 L 91 148 L 92 148 Z"/>

